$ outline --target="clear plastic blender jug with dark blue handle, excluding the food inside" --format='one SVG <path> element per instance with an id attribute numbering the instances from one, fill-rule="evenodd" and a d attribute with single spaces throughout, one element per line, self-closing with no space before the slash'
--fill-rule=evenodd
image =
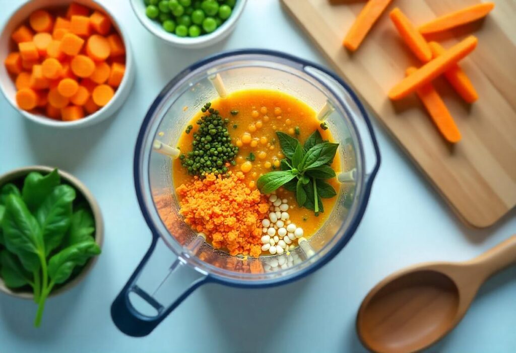
<path id="1" fill-rule="evenodd" d="M 340 143 L 343 165 L 337 173 L 343 187 L 325 225 L 288 254 L 261 258 L 230 256 L 192 231 L 178 213 L 171 173 L 170 146 L 175 146 L 192 114 L 219 96 L 254 88 L 288 93 L 319 112 Z M 257 288 L 314 272 L 358 227 L 379 165 L 378 145 L 364 107 L 347 84 L 326 69 L 264 50 L 228 52 L 193 64 L 159 94 L 139 132 L 135 188 L 152 243 L 112 304 L 113 321 L 122 332 L 141 337 L 203 283 Z M 159 239 L 165 250 L 156 247 Z"/>

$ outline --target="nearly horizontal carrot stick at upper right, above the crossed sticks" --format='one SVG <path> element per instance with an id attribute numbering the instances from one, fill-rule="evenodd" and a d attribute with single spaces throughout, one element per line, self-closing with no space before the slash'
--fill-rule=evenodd
<path id="1" fill-rule="evenodd" d="M 441 32 L 481 19 L 494 8 L 493 3 L 482 3 L 450 12 L 419 27 L 424 35 Z"/>

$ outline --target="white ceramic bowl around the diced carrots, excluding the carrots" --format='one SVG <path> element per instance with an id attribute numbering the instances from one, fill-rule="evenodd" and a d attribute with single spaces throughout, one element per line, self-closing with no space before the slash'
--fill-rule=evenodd
<path id="1" fill-rule="evenodd" d="M 115 96 L 110 100 L 110 102 L 96 111 L 93 114 L 85 116 L 83 119 L 79 119 L 72 122 L 63 122 L 50 119 L 43 115 L 33 114 L 28 111 L 22 110 L 18 108 L 16 104 L 16 88 L 14 86 L 14 81 L 10 77 L 7 72 L 5 65 L 3 64 L 5 58 L 9 54 L 12 49 L 12 40 L 11 33 L 22 23 L 26 22 L 29 18 L 30 13 L 37 9 L 47 8 L 47 7 L 60 7 L 66 6 L 72 2 L 72 0 L 31 0 L 31 1 L 23 1 L 21 5 L 11 14 L 9 20 L 6 25 L 2 29 L 2 34 L 0 36 L 0 88 L 2 89 L 2 93 L 7 98 L 9 103 L 17 109 L 23 116 L 27 119 L 46 126 L 57 127 L 57 128 L 77 128 L 84 127 L 96 124 L 101 122 L 107 117 L 113 115 L 124 103 L 125 99 L 129 95 L 131 91 L 131 87 L 133 86 L 134 76 L 135 76 L 135 64 L 134 58 L 131 51 L 131 45 L 128 40 L 127 33 L 118 25 L 118 22 L 115 19 L 115 16 L 109 12 L 104 6 L 100 3 L 93 0 L 73 0 L 76 3 L 83 4 L 92 9 L 98 9 L 111 18 L 111 22 L 117 31 L 120 33 L 122 40 L 125 45 L 125 75 L 120 83 L 120 86 L 115 92 Z"/>

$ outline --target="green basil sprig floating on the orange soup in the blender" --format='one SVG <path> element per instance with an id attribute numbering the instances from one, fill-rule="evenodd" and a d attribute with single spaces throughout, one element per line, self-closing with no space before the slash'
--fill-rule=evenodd
<path id="1" fill-rule="evenodd" d="M 326 179 L 335 177 L 330 164 L 337 152 L 337 143 L 322 140 L 318 130 L 304 142 L 304 145 L 284 132 L 276 131 L 281 149 L 286 158 L 281 160 L 281 171 L 262 175 L 257 186 L 264 194 L 284 187 L 296 194 L 299 206 L 324 212 L 322 198 L 337 195 Z"/>

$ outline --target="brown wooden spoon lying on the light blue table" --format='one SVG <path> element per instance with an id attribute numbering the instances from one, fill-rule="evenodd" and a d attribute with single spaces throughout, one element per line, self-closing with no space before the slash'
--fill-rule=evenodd
<path id="1" fill-rule="evenodd" d="M 386 277 L 362 301 L 360 340 L 382 353 L 428 347 L 458 324 L 480 285 L 512 263 L 516 235 L 470 261 L 424 263 Z"/>

